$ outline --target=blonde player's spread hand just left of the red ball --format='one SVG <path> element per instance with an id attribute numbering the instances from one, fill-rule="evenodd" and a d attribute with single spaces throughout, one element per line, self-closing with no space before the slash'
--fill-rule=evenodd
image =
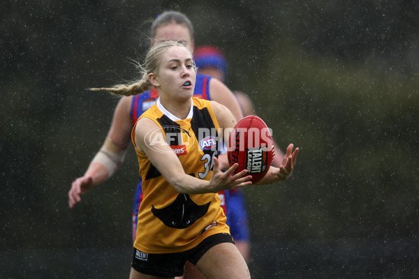
<path id="1" fill-rule="evenodd" d="M 226 172 L 221 172 L 219 159 L 214 157 L 214 170 L 210 180 L 210 192 L 218 193 L 221 190 L 229 190 L 233 188 L 242 188 L 251 184 L 251 176 L 247 174 L 247 169 L 243 169 L 237 174 L 233 174 L 239 164 L 235 163 L 228 168 Z"/>

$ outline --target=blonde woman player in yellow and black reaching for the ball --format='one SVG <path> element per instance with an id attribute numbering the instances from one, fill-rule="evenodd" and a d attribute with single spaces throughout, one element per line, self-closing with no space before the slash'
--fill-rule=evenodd
<path id="1" fill-rule="evenodd" d="M 221 172 L 217 149 L 206 149 L 200 129 L 228 131 L 235 117 L 219 103 L 192 98 L 196 68 L 182 43 L 154 45 L 142 79 L 101 90 L 131 96 L 151 88 L 159 99 L 133 128 L 132 140 L 143 180 L 131 278 L 182 276 L 186 260 L 207 278 L 250 278 L 247 264 L 233 245 L 220 206 L 220 190 L 249 185 L 237 164 Z M 224 139 L 229 135 L 225 132 Z M 219 135 L 210 135 L 217 141 Z M 226 141 L 228 142 L 228 141 Z M 182 152 L 174 152 L 184 149 Z M 288 179 L 298 149 L 290 144 L 283 165 L 270 167 L 258 184 Z"/>

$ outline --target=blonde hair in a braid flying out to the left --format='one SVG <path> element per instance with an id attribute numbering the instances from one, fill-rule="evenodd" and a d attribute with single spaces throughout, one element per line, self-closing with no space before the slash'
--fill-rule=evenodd
<path id="1" fill-rule="evenodd" d="M 149 74 L 153 73 L 154 75 L 157 75 L 159 72 L 161 54 L 163 54 L 163 52 L 165 52 L 169 47 L 185 47 L 186 50 L 191 52 L 189 48 L 186 47 L 186 45 L 181 41 L 166 40 L 150 48 L 149 52 L 147 52 L 147 56 L 145 56 L 144 66 L 138 63 L 141 76 L 140 80 L 136 80 L 128 84 L 116 84 L 112 87 L 89 88 L 89 90 L 108 91 L 117 95 L 132 96 L 144 93 L 145 91 L 152 89 L 153 84 L 149 81 Z"/>

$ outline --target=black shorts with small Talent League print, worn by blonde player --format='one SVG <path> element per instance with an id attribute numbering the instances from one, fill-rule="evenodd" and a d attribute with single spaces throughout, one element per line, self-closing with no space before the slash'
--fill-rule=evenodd
<path id="1" fill-rule="evenodd" d="M 170 254 L 148 254 L 134 248 L 131 266 L 136 271 L 151 276 L 182 276 L 186 260 L 196 264 L 207 250 L 219 243 L 234 243 L 234 241 L 230 234 L 214 234 L 191 250 Z"/>

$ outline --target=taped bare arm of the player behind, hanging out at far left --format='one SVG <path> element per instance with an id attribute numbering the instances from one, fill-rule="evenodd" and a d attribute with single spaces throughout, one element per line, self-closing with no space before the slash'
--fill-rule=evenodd
<path id="1" fill-rule="evenodd" d="M 68 205 L 70 208 L 80 202 L 80 195 L 89 188 L 106 181 L 117 170 L 124 159 L 124 153 L 131 142 L 132 121 L 129 117 L 131 97 L 119 100 L 112 118 L 112 124 L 101 150 L 91 161 L 83 176 L 71 183 L 68 191 Z"/>

